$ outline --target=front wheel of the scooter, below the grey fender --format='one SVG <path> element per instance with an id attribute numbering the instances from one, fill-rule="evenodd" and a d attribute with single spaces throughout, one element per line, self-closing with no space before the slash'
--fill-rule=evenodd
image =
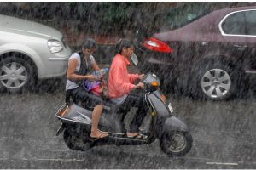
<path id="1" fill-rule="evenodd" d="M 161 149 L 172 157 L 184 156 L 191 150 L 193 144 L 192 136 L 189 132 L 173 131 L 164 134 L 160 139 Z"/>

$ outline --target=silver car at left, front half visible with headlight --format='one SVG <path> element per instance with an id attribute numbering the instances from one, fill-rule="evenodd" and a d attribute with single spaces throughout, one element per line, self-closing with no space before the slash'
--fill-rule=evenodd
<path id="1" fill-rule="evenodd" d="M 0 15 L 0 91 L 18 93 L 38 79 L 63 76 L 70 54 L 60 31 Z"/>

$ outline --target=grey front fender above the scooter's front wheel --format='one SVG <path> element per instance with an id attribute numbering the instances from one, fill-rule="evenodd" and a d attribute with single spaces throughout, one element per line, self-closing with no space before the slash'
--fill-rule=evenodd
<path id="1" fill-rule="evenodd" d="M 180 131 L 180 132 L 189 132 L 189 127 L 180 121 L 176 116 L 171 116 L 166 119 L 164 122 L 162 133 L 170 133 L 170 131 Z"/>

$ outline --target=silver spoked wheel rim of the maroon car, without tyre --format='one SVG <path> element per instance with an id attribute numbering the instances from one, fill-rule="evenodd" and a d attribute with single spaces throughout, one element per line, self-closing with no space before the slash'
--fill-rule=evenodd
<path id="1" fill-rule="evenodd" d="M 207 71 L 201 78 L 201 88 L 210 98 L 221 98 L 228 94 L 231 87 L 230 75 L 221 69 Z"/>

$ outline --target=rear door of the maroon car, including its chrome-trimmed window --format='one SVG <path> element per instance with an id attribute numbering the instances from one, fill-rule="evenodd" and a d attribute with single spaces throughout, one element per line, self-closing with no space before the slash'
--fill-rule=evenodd
<path id="1" fill-rule="evenodd" d="M 227 14 L 219 24 L 231 57 L 241 63 L 245 71 L 256 69 L 256 9 Z"/>

